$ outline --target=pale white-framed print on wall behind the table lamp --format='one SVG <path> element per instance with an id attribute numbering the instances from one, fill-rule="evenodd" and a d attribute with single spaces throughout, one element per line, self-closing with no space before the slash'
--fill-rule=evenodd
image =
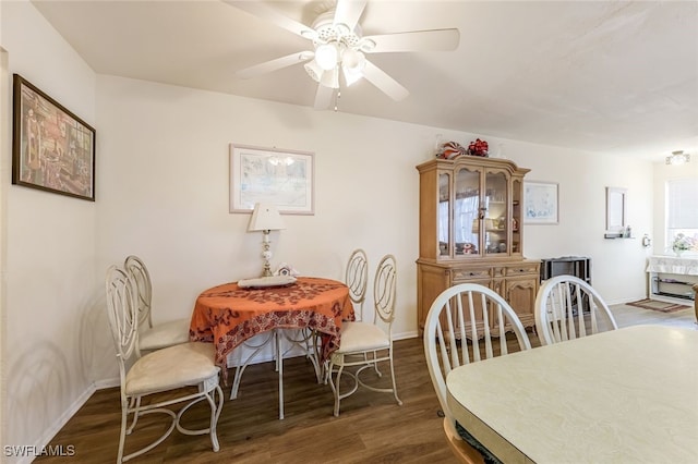
<path id="1" fill-rule="evenodd" d="M 230 212 L 252 212 L 257 203 L 280 213 L 314 213 L 314 154 L 230 145 Z"/>

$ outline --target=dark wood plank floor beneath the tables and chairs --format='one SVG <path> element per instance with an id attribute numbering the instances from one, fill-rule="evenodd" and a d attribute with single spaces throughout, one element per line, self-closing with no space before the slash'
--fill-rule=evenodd
<path id="1" fill-rule="evenodd" d="M 530 333 L 533 345 L 535 335 Z M 285 363 L 285 419 L 278 419 L 278 377 L 273 363 L 245 371 L 237 400 L 226 401 L 218 422 L 220 451 L 214 453 L 208 436 L 174 431 L 164 443 L 133 463 L 453 463 L 438 401 L 434 393 L 421 339 L 395 342 L 398 406 L 390 394 L 360 389 L 341 402 L 333 416 L 329 386 L 317 384 L 310 362 Z M 232 379 L 232 370 L 230 379 Z M 366 373 L 371 378 L 371 373 Z M 387 376 L 384 376 L 384 379 Z M 208 410 L 198 404 L 184 420 L 203 428 Z M 159 436 L 164 416 L 146 416 L 127 438 L 127 453 Z M 37 462 L 110 463 L 117 457 L 120 430 L 119 389 L 99 390 L 53 438 L 51 445 L 73 445 L 74 457 L 40 457 Z"/>

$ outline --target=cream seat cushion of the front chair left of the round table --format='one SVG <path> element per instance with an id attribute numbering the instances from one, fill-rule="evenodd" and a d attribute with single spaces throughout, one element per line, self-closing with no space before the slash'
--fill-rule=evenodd
<path id="1" fill-rule="evenodd" d="M 146 354 L 127 374 L 127 395 L 196 386 L 217 376 L 213 343 L 189 342 Z"/>

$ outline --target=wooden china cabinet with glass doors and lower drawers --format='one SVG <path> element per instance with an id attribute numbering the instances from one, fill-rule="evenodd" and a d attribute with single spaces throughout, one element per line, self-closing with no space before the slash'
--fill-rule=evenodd
<path id="1" fill-rule="evenodd" d="M 494 290 L 509 303 L 525 327 L 534 326 L 540 261 L 521 254 L 521 197 L 524 176 L 529 170 L 506 159 L 474 156 L 433 159 L 417 169 L 420 333 L 436 296 L 464 282 Z"/>

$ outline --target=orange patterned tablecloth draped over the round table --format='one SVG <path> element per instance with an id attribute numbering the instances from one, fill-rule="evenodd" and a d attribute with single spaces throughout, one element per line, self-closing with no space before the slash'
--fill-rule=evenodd
<path id="1" fill-rule="evenodd" d="M 323 337 L 323 361 L 339 346 L 342 320 L 354 320 L 349 289 L 341 282 L 302 277 L 288 286 L 240 289 L 225 283 L 196 298 L 190 339 L 213 342 L 216 364 L 245 340 L 275 328 L 312 328 Z M 225 369 L 224 369 L 225 373 Z"/>

